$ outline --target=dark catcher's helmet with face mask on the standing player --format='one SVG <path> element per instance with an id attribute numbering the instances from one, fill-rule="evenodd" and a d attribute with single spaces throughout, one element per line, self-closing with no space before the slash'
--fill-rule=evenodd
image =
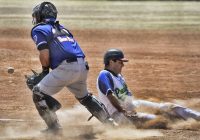
<path id="1" fill-rule="evenodd" d="M 56 19 L 57 18 L 57 9 L 50 2 L 42 2 L 33 8 L 32 17 L 35 18 L 36 21 L 33 21 L 33 24 L 38 24 L 42 22 L 44 19 Z"/>

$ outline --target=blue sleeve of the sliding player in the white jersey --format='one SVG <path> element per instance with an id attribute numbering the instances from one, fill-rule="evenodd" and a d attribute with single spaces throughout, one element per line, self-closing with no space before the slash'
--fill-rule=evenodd
<path id="1" fill-rule="evenodd" d="M 107 95 L 110 91 L 114 92 L 114 84 L 112 76 L 107 71 L 102 71 L 98 78 L 99 90 Z"/>

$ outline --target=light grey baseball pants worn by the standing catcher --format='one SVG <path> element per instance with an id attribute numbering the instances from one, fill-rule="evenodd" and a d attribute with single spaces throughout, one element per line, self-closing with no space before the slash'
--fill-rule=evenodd
<path id="1" fill-rule="evenodd" d="M 83 58 L 77 58 L 76 62 L 71 63 L 63 61 L 38 84 L 40 90 L 47 95 L 53 95 L 63 87 L 67 87 L 76 98 L 85 97 L 88 95 L 86 83 L 88 70 L 85 63 Z"/>

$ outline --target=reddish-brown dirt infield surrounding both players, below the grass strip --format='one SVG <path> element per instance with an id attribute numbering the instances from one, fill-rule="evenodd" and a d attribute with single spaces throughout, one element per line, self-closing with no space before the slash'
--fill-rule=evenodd
<path id="1" fill-rule="evenodd" d="M 199 32 L 76 29 L 72 33 L 86 53 L 90 65 L 88 87 L 94 94 L 98 72 L 103 69 L 103 53 L 108 48 L 119 48 L 130 60 L 125 64 L 123 75 L 135 97 L 177 102 L 200 111 Z M 30 69 L 41 70 L 38 52 L 29 34 L 30 29 L 0 29 L 0 139 L 52 139 L 38 134 L 45 124 L 25 84 L 24 75 L 31 74 Z M 7 73 L 9 66 L 15 68 L 12 75 Z M 55 97 L 63 105 L 58 114 L 65 133 L 53 139 L 197 140 L 200 137 L 200 125 L 192 120 L 172 123 L 168 130 L 105 131 L 107 128 L 95 119 L 86 122 L 89 114 L 84 109 L 77 110 L 84 116 L 74 114 L 73 110 L 65 112 L 77 103 L 69 91 L 62 90 Z M 74 118 L 80 125 L 72 123 L 77 122 Z"/>

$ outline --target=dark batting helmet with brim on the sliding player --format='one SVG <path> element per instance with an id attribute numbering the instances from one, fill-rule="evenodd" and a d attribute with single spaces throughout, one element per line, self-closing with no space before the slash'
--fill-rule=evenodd
<path id="1" fill-rule="evenodd" d="M 108 65 L 110 60 L 121 60 L 123 62 L 128 62 L 128 59 L 124 58 L 124 54 L 119 49 L 109 49 L 104 55 L 104 64 Z"/>

